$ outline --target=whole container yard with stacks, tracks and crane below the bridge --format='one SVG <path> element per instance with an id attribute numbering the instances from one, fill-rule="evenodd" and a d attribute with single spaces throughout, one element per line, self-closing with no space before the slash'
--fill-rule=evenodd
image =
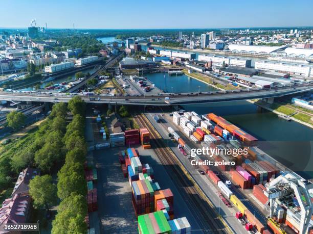
<path id="1" fill-rule="evenodd" d="M 100 114 L 92 115 L 98 183 L 88 188 L 105 197 L 90 212 L 99 210 L 105 231 L 124 220 L 125 230 L 139 233 L 312 233 L 312 184 L 257 148 L 256 138 L 213 113 L 161 113 L 138 114 L 139 129 L 109 139 Z M 210 159 L 194 154 L 202 147 L 248 153 Z M 118 206 L 110 207 L 114 193 Z M 126 219 L 117 214 L 121 205 Z"/>

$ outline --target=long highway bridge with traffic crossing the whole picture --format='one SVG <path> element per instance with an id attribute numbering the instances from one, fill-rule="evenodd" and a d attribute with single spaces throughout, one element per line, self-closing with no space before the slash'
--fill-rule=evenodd
<path id="1" fill-rule="evenodd" d="M 301 84 L 277 87 L 272 89 L 250 89 L 234 91 L 216 91 L 207 93 L 175 93 L 162 95 L 90 95 L 81 94 L 52 94 L 52 93 L 14 93 L 0 92 L 0 100 L 8 101 L 34 101 L 34 102 L 68 102 L 74 95 L 80 95 L 87 103 L 110 103 L 112 105 L 144 105 L 144 106 L 168 106 L 182 104 L 197 104 L 209 102 L 247 100 L 256 98 L 271 98 L 285 96 L 294 93 L 311 91 L 313 84 Z"/>

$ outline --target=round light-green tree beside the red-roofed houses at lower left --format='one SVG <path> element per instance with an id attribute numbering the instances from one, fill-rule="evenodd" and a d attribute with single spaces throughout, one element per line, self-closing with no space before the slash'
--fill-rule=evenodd
<path id="1" fill-rule="evenodd" d="M 35 176 L 29 183 L 29 194 L 34 199 L 35 207 L 44 206 L 47 210 L 57 202 L 57 188 L 51 175 Z"/>

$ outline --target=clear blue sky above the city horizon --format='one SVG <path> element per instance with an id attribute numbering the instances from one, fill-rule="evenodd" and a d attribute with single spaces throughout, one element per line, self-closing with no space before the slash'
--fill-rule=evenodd
<path id="1" fill-rule="evenodd" d="M 187 29 L 313 26 L 312 0 L 2 1 L 0 28 Z"/>

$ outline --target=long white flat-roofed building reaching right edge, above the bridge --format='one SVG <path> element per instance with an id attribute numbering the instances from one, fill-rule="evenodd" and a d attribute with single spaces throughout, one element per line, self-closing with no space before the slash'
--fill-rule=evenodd
<path id="1" fill-rule="evenodd" d="M 256 61 L 255 69 L 264 69 L 270 71 L 287 72 L 289 74 L 297 74 L 304 76 L 313 76 L 312 67 L 302 64 Z"/>

